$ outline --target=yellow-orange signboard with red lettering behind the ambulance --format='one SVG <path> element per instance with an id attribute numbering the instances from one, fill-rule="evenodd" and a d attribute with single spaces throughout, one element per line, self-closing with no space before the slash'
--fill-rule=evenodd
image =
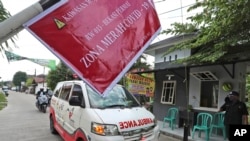
<path id="1" fill-rule="evenodd" d="M 147 97 L 153 97 L 155 91 L 155 81 L 153 78 L 140 76 L 138 74 L 127 74 L 126 88 L 132 94 L 141 94 Z"/>

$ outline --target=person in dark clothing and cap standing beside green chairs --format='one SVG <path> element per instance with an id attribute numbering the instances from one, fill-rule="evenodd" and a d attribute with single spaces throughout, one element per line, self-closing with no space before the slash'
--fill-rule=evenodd
<path id="1" fill-rule="evenodd" d="M 226 111 L 224 124 L 226 127 L 226 134 L 229 139 L 229 126 L 248 124 L 248 111 L 246 104 L 239 100 L 239 93 L 231 91 L 229 93 L 230 102 L 227 106 L 221 106 L 221 111 Z M 229 139 L 230 140 L 230 139 Z"/>

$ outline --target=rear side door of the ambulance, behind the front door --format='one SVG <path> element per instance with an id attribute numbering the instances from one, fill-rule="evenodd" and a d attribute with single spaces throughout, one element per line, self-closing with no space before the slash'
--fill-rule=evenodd
<path id="1" fill-rule="evenodd" d="M 58 116 L 57 116 L 57 121 L 60 124 L 61 127 L 64 128 L 65 124 L 65 119 L 67 117 L 68 111 L 67 108 L 69 107 L 68 99 L 70 96 L 71 89 L 73 87 L 73 83 L 67 82 L 63 85 L 61 93 L 59 95 L 59 100 L 58 100 Z"/>

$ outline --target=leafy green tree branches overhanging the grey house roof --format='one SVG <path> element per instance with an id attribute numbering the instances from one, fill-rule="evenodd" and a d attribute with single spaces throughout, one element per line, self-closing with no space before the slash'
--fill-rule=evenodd
<path id="1" fill-rule="evenodd" d="M 233 48 L 248 46 L 249 7 L 248 0 L 197 0 L 188 12 L 197 9 L 201 9 L 201 12 L 189 17 L 190 23 L 173 23 L 170 29 L 162 32 L 173 35 L 196 33 L 197 36 L 170 48 L 166 54 L 192 49 L 195 50 L 192 56 L 180 62 L 215 62 L 230 53 Z"/>

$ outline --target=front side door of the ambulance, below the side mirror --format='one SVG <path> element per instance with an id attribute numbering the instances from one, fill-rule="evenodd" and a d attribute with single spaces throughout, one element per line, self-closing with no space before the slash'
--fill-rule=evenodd
<path id="1" fill-rule="evenodd" d="M 74 84 L 73 89 L 72 89 L 72 93 L 70 95 L 70 98 L 74 96 L 74 97 L 78 97 L 79 101 L 84 104 L 84 98 L 83 98 L 83 91 L 82 91 L 82 87 L 80 84 Z M 80 123 L 80 118 L 81 118 L 81 114 L 82 114 L 82 106 L 71 106 L 71 105 L 67 105 L 67 116 L 65 118 L 65 129 L 67 130 L 68 133 L 73 134 L 74 131 L 79 128 L 79 123 Z"/>

